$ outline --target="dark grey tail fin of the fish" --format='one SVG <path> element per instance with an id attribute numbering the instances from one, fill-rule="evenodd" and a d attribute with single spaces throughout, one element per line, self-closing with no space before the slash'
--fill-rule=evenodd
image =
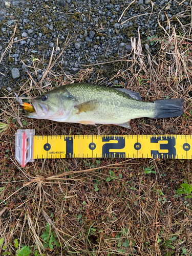
<path id="1" fill-rule="evenodd" d="M 182 99 L 155 100 L 154 118 L 176 117 L 183 114 Z"/>

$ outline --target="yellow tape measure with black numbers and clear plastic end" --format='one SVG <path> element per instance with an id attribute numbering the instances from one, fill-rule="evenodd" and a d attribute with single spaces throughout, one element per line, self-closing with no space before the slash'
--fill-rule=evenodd
<path id="1" fill-rule="evenodd" d="M 192 159 L 190 135 L 35 136 L 34 132 L 17 130 L 15 158 L 22 166 L 33 159 L 43 158 Z"/>

